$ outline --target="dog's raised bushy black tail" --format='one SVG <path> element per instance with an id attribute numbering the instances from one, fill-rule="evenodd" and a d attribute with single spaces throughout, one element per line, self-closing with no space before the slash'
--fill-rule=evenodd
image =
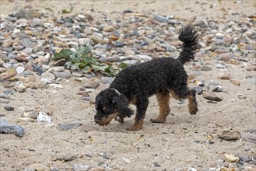
<path id="1" fill-rule="evenodd" d="M 179 60 L 182 64 L 194 59 L 195 50 L 198 49 L 198 33 L 195 31 L 194 26 L 184 26 L 180 30 L 179 40 L 183 42 L 182 51 Z"/>

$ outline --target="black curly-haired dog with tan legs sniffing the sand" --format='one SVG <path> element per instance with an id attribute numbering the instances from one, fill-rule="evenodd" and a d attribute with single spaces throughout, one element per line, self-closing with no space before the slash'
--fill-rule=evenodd
<path id="1" fill-rule="evenodd" d="M 170 94 L 175 99 L 188 99 L 189 113 L 198 111 L 195 89 L 188 89 L 188 75 L 184 63 L 194 59 L 198 49 L 198 33 L 193 26 L 184 26 L 180 30 L 179 40 L 183 42 L 179 58 L 157 58 L 139 65 L 132 65 L 119 72 L 108 89 L 96 96 L 96 124 L 107 125 L 112 119 L 124 122 L 137 108 L 135 123 L 129 131 L 142 129 L 143 120 L 149 104 L 149 96 L 156 94 L 160 114 L 153 123 L 165 123 L 170 113 Z"/>

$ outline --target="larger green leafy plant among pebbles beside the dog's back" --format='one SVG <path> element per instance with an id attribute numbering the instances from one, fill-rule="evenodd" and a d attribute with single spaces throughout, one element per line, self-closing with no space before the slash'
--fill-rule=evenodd
<path id="1" fill-rule="evenodd" d="M 72 70 L 80 70 L 84 73 L 89 72 L 101 72 L 103 75 L 113 77 L 116 75 L 118 70 L 126 68 L 127 65 L 121 63 L 117 68 L 114 68 L 111 64 L 100 63 L 93 58 L 88 46 L 86 47 L 75 47 L 75 51 L 70 49 L 62 49 L 54 54 L 54 60 L 65 58 L 70 61 Z"/>

